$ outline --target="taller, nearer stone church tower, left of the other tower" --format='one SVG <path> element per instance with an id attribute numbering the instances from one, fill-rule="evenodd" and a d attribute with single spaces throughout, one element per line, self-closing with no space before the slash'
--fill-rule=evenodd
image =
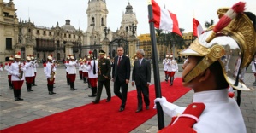
<path id="1" fill-rule="evenodd" d="M 84 43 L 86 45 L 100 44 L 104 39 L 104 28 L 107 26 L 109 11 L 105 0 L 88 0 L 87 29 Z"/>

